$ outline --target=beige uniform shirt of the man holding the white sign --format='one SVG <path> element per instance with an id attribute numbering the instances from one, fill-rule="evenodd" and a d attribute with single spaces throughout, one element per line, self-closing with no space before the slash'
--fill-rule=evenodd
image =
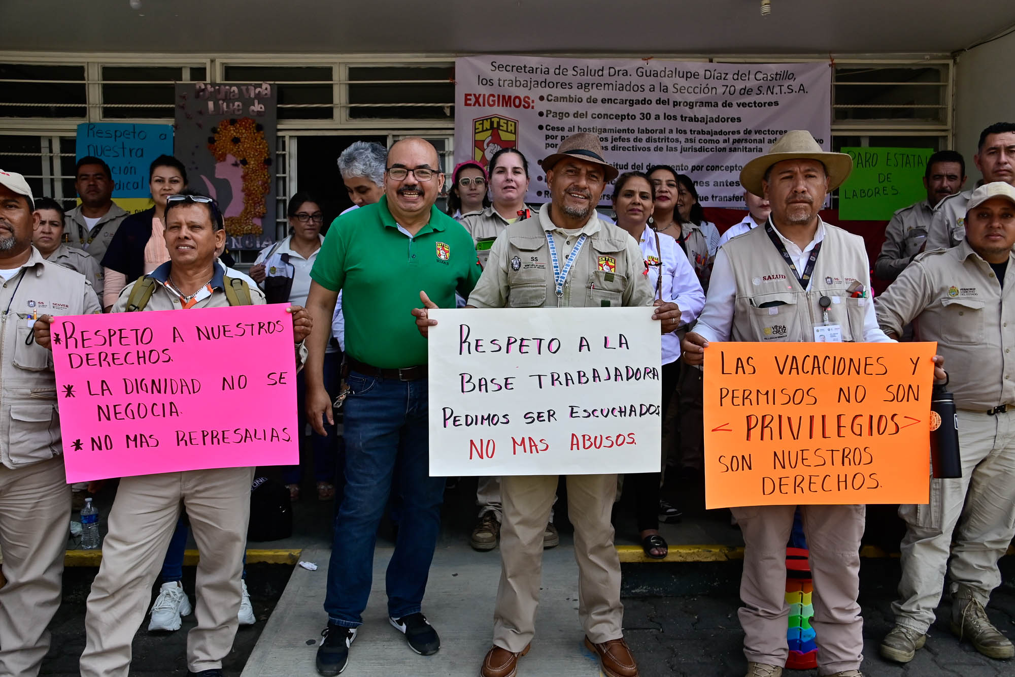
<path id="1" fill-rule="evenodd" d="M 562 294 L 556 297 L 547 233 L 553 238 L 561 269 L 581 235 L 588 236 L 571 264 Z M 477 308 L 542 308 L 566 306 L 648 306 L 653 289 L 645 258 L 626 231 L 603 223 L 595 213 L 579 230 L 550 221 L 544 204 L 532 219 L 504 229 L 490 249 L 488 265 L 469 296 Z"/>

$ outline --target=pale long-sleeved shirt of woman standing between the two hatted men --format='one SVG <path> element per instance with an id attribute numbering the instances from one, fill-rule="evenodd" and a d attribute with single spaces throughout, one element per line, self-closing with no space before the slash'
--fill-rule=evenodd
<path id="1" fill-rule="evenodd" d="M 657 251 L 656 233 L 646 226 L 645 232 L 638 239 L 638 246 L 646 262 L 649 263 L 649 284 L 652 285 L 653 295 L 656 294 L 656 285 L 662 272 L 661 298 L 663 301 L 672 301 L 680 306 L 682 326 L 693 323 L 704 307 L 704 290 L 701 289 L 697 273 L 680 249 L 680 245 L 669 235 L 660 234 L 659 248 L 662 252 Z M 679 358 L 680 338 L 677 337 L 676 331 L 664 333 L 663 364 L 676 362 Z"/>

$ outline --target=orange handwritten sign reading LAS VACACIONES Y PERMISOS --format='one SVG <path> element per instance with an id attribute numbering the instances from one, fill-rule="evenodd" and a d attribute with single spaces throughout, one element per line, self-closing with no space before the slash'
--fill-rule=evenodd
<path id="1" fill-rule="evenodd" d="M 705 506 L 927 503 L 934 343 L 715 343 Z"/>

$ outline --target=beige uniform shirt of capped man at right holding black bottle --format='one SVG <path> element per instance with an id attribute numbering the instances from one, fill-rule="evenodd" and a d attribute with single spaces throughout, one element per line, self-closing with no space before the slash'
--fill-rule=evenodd
<path id="1" fill-rule="evenodd" d="M 1015 405 L 1015 255 L 1002 288 L 966 240 L 927 252 L 878 297 L 878 323 L 918 341 L 938 342 L 955 406 L 986 412 Z"/>

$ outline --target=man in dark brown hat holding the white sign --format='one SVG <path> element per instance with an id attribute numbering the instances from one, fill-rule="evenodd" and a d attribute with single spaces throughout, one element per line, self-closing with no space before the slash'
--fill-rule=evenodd
<path id="1" fill-rule="evenodd" d="M 490 249 L 482 276 L 469 296 L 475 308 L 649 306 L 653 290 L 637 242 L 606 224 L 596 205 L 617 170 L 603 159 L 595 134 L 579 133 L 542 162 L 552 201 L 538 214 L 507 226 Z M 522 266 L 520 261 L 525 260 Z M 562 268 L 562 270 L 561 270 Z M 413 311 L 425 335 L 434 320 Z M 677 328 L 680 309 L 659 302 L 653 319 Z M 646 309 L 648 312 L 648 308 Z M 557 487 L 556 476 L 502 477 L 500 586 L 493 613 L 493 647 L 482 677 L 512 677 L 535 635 L 543 531 Z M 579 565 L 579 618 L 585 644 L 608 677 L 636 677 L 637 664 L 623 639 L 620 561 L 610 513 L 616 475 L 567 477 L 567 510 L 574 526 Z"/>

